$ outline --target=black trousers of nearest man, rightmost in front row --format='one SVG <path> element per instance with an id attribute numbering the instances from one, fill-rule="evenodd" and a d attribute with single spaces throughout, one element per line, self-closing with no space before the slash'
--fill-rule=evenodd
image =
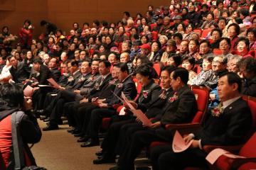
<path id="1" fill-rule="evenodd" d="M 206 153 L 199 148 L 175 153 L 171 145 L 160 145 L 151 150 L 150 159 L 154 170 L 178 170 L 188 166 L 207 169 Z"/>

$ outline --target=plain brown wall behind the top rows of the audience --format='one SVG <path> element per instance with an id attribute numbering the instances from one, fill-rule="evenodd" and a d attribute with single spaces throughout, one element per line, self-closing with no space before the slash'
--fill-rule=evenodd
<path id="1" fill-rule="evenodd" d="M 147 6 L 165 6 L 168 0 L 1 0 L 0 28 L 9 26 L 11 33 L 17 34 L 25 19 L 35 26 L 34 37 L 43 32 L 39 25 L 42 19 L 55 23 L 67 34 L 73 22 L 92 23 L 93 20 L 116 22 L 124 11 L 132 16 L 144 14 Z"/>

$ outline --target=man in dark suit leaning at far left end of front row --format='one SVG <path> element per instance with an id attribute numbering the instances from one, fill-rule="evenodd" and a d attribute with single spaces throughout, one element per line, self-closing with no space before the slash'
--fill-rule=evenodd
<path id="1" fill-rule="evenodd" d="M 15 56 L 8 57 L 8 60 L 11 63 L 11 79 L 16 84 L 22 84 L 29 77 L 28 72 L 24 68 L 24 62 L 18 62 Z"/>

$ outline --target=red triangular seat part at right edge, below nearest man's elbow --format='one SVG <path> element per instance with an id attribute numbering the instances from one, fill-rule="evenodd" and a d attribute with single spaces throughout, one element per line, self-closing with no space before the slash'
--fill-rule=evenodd
<path id="1" fill-rule="evenodd" d="M 248 158 L 256 157 L 256 132 L 242 146 L 239 155 Z"/>

